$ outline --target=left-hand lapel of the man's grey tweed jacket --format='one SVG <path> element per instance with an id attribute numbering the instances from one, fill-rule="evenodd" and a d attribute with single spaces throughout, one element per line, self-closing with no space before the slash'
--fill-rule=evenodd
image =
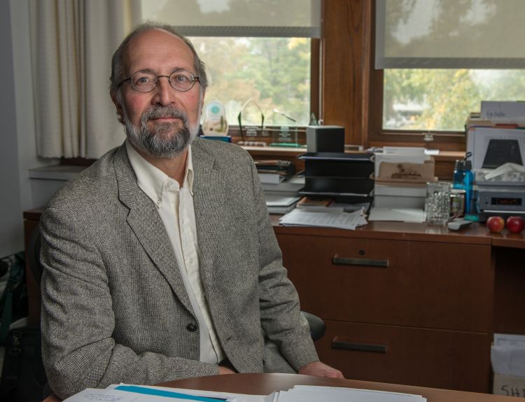
<path id="1" fill-rule="evenodd" d="M 169 242 L 164 224 L 160 220 L 155 205 L 139 188 L 137 177 L 127 158 L 125 145 L 116 152 L 114 166 L 118 182 L 118 195 L 130 209 L 127 223 L 144 247 L 144 251 L 162 272 L 174 293 L 191 314 L 188 293 L 183 284 L 179 266 L 176 263 L 172 244 Z M 195 314 L 193 314 L 195 316 Z"/>

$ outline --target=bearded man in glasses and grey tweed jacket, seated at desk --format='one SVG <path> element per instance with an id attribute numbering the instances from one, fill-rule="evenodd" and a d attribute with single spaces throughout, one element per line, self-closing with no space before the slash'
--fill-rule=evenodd
<path id="1" fill-rule="evenodd" d="M 235 371 L 342 377 L 318 361 L 250 156 L 195 138 L 206 86 L 166 26 L 113 56 L 127 141 L 41 219 L 43 360 L 62 398 Z"/>

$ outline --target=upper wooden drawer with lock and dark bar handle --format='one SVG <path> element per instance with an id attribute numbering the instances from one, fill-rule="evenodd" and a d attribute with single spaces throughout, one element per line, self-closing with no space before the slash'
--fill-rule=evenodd
<path id="1" fill-rule="evenodd" d="M 489 246 L 279 235 L 303 310 L 323 319 L 489 332 Z"/>

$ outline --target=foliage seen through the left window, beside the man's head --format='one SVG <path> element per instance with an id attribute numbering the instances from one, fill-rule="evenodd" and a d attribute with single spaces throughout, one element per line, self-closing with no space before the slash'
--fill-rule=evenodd
<path id="1" fill-rule="evenodd" d="M 202 38 L 192 41 L 207 64 L 206 99 L 225 104 L 229 124 L 253 99 L 271 124 L 274 109 L 305 125 L 310 108 L 310 40 L 305 38 Z"/>

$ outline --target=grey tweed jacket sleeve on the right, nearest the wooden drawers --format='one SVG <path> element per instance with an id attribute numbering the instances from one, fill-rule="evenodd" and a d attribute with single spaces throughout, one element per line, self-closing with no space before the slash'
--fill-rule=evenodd
<path id="1" fill-rule="evenodd" d="M 281 250 L 269 221 L 266 202 L 255 165 L 252 166 L 260 244 L 259 303 L 260 320 L 265 336 L 279 347 L 279 352 L 296 371 L 318 356 L 309 326 L 300 314 L 295 286 L 283 268 Z"/>

